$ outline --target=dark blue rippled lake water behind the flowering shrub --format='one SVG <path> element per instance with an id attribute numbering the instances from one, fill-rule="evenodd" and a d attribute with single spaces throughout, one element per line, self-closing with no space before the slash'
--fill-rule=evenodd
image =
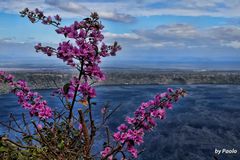
<path id="1" fill-rule="evenodd" d="M 188 96 L 167 112 L 167 118 L 145 136 L 142 160 L 219 160 L 240 159 L 240 85 L 128 85 L 97 87 L 94 116 L 100 119 L 100 108 L 122 104 L 111 117 L 112 129 L 132 115 L 143 101 L 168 87 L 184 88 Z M 52 107 L 59 101 L 50 96 L 51 90 L 39 91 Z M 12 94 L 0 95 L 0 120 L 10 113 L 21 115 L 23 109 Z M 2 128 L 1 132 L 5 132 Z M 215 154 L 215 149 L 235 149 L 237 154 Z"/>

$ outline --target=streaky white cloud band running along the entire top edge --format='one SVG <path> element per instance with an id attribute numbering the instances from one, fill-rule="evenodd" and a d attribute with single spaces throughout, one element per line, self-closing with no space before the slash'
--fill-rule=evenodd
<path id="1" fill-rule="evenodd" d="M 17 13 L 24 7 L 41 8 L 64 17 L 87 16 L 97 11 L 102 18 L 132 22 L 137 16 L 177 15 L 240 17 L 240 0 L 119 0 L 116 2 L 64 0 L 1 0 L 0 10 Z"/>

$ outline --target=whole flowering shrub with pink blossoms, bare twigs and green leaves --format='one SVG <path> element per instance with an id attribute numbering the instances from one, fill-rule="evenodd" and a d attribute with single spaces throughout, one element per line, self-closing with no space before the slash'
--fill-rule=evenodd
<path id="1" fill-rule="evenodd" d="M 22 114 L 19 124 L 13 116 L 15 127 L 2 123 L 18 133 L 17 140 L 9 135 L 3 135 L 0 141 L 0 157 L 2 159 L 130 159 L 137 158 L 141 151 L 137 146 L 144 142 L 144 134 L 156 126 L 156 119 L 164 119 L 166 110 L 172 109 L 173 102 L 185 95 L 183 89 L 157 94 L 152 100 L 142 103 L 134 112 L 133 117 L 119 125 L 111 134 L 106 122 L 117 109 L 110 112 L 106 107 L 101 109 L 102 123 L 95 124 L 92 108 L 96 97 L 94 83 L 103 81 L 105 75 L 99 64 L 107 56 L 115 56 L 121 50 L 117 42 L 106 45 L 103 42 L 104 26 L 99 21 L 97 13 L 70 26 L 61 26 L 61 17 L 45 16 L 42 11 L 28 8 L 20 12 L 22 17 L 28 17 L 32 23 L 42 22 L 44 25 L 56 27 L 56 33 L 62 34 L 65 41 L 57 48 L 35 46 L 37 52 L 47 56 L 56 56 L 64 63 L 78 71 L 69 83 L 56 90 L 63 110 L 53 110 L 43 97 L 28 87 L 23 80 L 14 81 L 14 77 L 6 72 L 0 72 L 0 83 L 7 84 L 10 91 L 18 98 L 18 103 L 27 109 L 31 119 Z M 78 109 L 77 114 L 73 109 Z M 102 150 L 93 153 L 96 132 L 106 129 L 106 140 Z"/>

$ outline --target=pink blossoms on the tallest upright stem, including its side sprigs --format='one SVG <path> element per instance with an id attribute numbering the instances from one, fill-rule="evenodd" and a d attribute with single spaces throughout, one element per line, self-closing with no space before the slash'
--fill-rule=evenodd
<path id="1" fill-rule="evenodd" d="M 25 9 L 21 12 L 22 16 L 27 16 L 31 21 L 36 19 L 42 21 L 43 24 L 52 24 L 57 27 L 56 32 L 64 35 L 67 40 L 59 43 L 57 48 L 50 46 L 42 46 L 41 43 L 35 46 L 37 52 L 42 52 L 48 56 L 57 56 L 72 67 L 81 71 L 83 80 L 78 79 L 77 83 L 70 82 L 68 98 L 73 98 L 75 91 L 82 92 L 83 97 L 95 97 L 95 90 L 89 85 L 89 80 L 104 80 L 105 75 L 101 71 L 99 64 L 101 57 L 115 56 L 121 47 L 114 42 L 113 45 L 106 45 L 102 40 L 104 36 L 102 30 L 104 26 L 99 21 L 96 13 L 92 13 L 89 18 L 82 21 L 75 21 L 69 26 L 60 26 L 61 17 L 45 17 L 42 11 L 36 9 L 29 11 Z M 33 20 L 34 19 L 34 20 Z M 54 20 L 53 20 L 54 19 Z M 76 78 L 71 81 L 76 82 Z M 63 93 L 63 92 L 59 92 Z"/>

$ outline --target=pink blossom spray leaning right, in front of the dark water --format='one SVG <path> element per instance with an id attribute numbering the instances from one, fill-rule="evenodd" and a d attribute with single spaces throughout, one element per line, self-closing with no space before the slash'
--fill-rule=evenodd
<path id="1" fill-rule="evenodd" d="M 117 128 L 118 131 L 113 134 L 114 140 L 122 145 L 126 144 L 127 151 L 137 158 L 135 144 L 142 144 L 144 132 L 151 131 L 157 125 L 155 119 L 163 119 L 165 110 L 172 109 L 172 103 L 184 95 L 183 89 L 174 91 L 169 88 L 168 92 L 157 94 L 153 100 L 142 103 L 135 111 L 134 117 L 126 117 L 127 124 L 123 123 Z"/>

